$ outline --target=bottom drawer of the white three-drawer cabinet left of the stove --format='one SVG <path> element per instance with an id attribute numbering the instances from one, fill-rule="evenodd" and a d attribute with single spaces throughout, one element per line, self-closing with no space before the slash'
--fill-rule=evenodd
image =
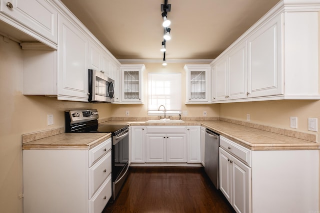
<path id="1" fill-rule="evenodd" d="M 96 194 L 89 200 L 89 212 L 90 213 L 101 213 L 111 198 L 111 174 L 103 182 L 102 186 L 96 192 Z"/>

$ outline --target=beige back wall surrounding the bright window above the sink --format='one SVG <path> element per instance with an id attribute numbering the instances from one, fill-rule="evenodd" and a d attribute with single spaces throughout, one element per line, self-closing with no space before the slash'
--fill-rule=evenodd
<path id="1" fill-rule="evenodd" d="M 203 111 L 207 112 L 207 117 L 219 116 L 219 104 L 184 104 L 185 103 L 185 71 L 183 69 L 184 63 L 168 63 L 167 66 L 162 66 L 161 63 L 145 63 L 145 70 L 143 72 L 143 104 L 112 105 L 112 117 L 125 117 L 125 111 L 129 110 L 128 117 L 147 117 L 147 85 L 148 73 L 181 73 L 181 90 L 182 90 L 182 111 L 188 112 L 188 117 L 203 117 Z"/>

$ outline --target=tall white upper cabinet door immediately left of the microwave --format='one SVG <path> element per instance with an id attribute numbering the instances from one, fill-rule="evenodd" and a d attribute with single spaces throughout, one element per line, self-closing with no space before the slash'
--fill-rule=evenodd
<path id="1" fill-rule="evenodd" d="M 58 43 L 58 99 L 88 101 L 88 38 L 59 15 Z"/>

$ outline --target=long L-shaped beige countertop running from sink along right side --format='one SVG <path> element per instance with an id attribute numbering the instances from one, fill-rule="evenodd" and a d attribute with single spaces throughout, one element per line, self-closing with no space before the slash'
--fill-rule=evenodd
<path id="1" fill-rule="evenodd" d="M 128 124 L 130 126 L 199 125 L 250 150 L 320 150 L 320 143 L 221 120 L 184 120 L 184 123 L 147 123 L 145 120 L 111 120 L 100 124 Z"/>

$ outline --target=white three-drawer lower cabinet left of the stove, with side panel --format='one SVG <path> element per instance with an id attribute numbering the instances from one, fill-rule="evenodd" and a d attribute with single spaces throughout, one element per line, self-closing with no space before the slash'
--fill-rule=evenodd
<path id="1" fill-rule="evenodd" d="M 24 213 L 101 213 L 111 197 L 111 138 L 90 150 L 23 150 Z"/>

